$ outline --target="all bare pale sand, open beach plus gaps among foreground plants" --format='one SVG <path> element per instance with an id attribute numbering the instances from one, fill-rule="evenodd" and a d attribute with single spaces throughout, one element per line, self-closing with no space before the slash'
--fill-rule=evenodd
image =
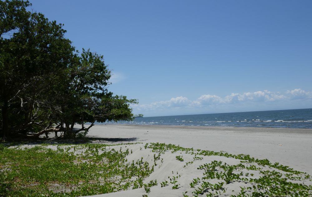
<path id="1" fill-rule="evenodd" d="M 180 145 L 181 147 L 202 149 L 209 151 L 226 151 L 231 154 L 249 154 L 258 159 L 268 159 L 271 163 L 279 162 L 282 165 L 290 166 L 294 170 L 312 174 L 312 129 L 292 128 L 254 128 L 254 127 L 182 127 L 170 125 L 95 125 L 88 134 L 89 137 L 102 138 L 100 143 L 121 143 L 121 142 L 159 142 L 166 144 Z M 144 144 L 133 146 L 134 153 L 129 161 L 135 156 L 144 159 L 153 154 L 150 151 L 140 149 Z M 147 152 L 146 152 L 147 151 Z M 150 155 L 151 154 L 151 155 Z M 190 160 L 191 155 L 183 152 L 166 152 L 163 157 L 163 166 L 155 168 L 155 171 L 144 182 L 164 179 L 168 176 L 177 175 L 180 188 L 172 190 L 171 187 L 151 187 L 148 196 L 183 196 L 182 192 L 188 191 L 192 196 L 190 181 L 202 175 L 197 167 L 213 160 L 226 162 L 230 165 L 240 163 L 234 158 L 220 156 L 205 156 L 200 161 L 194 161 L 193 165 L 183 167 L 185 162 L 176 160 L 175 156 L 183 155 L 185 161 Z M 217 158 L 217 159 L 216 159 Z M 269 169 L 264 167 L 263 170 Z M 172 174 L 172 171 L 174 172 Z M 255 174 L 257 177 L 257 174 Z M 305 184 L 311 185 L 311 181 Z M 245 185 L 246 186 L 246 185 Z M 229 184 L 227 190 L 240 189 L 239 183 Z M 146 194 L 143 188 L 121 191 L 117 193 L 103 194 L 97 196 L 142 196 Z M 200 195 L 201 196 L 201 195 Z M 202 195 L 206 196 L 206 194 Z"/>

